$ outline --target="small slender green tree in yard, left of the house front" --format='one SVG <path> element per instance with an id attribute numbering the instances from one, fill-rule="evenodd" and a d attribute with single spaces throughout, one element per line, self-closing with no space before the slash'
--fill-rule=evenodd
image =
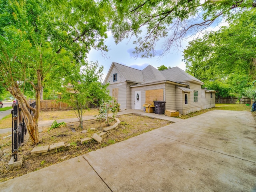
<path id="1" fill-rule="evenodd" d="M 89 110 L 88 104 L 94 104 L 95 100 L 109 100 L 110 96 L 106 90 L 108 85 L 103 85 L 101 80 L 103 66 L 98 68 L 98 63 L 85 62 L 80 71 L 70 70 L 66 72 L 63 84 L 68 84 L 63 100 L 73 107 L 79 119 L 80 127 L 83 129 L 82 115 Z M 67 75 L 68 74 L 68 75 Z"/>

